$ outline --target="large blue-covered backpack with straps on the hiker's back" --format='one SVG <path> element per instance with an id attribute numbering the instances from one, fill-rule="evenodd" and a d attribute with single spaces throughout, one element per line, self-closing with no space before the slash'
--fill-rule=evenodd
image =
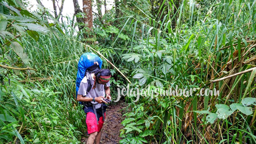
<path id="1" fill-rule="evenodd" d="M 98 64 L 94 64 L 95 62 L 98 62 Z M 88 87 L 86 90 L 86 94 L 92 89 L 92 77 L 91 73 L 96 72 L 96 70 L 100 69 L 102 66 L 102 60 L 99 56 L 92 52 L 86 52 L 82 54 L 79 62 L 78 62 L 78 70 L 76 75 L 76 98 L 77 98 L 77 92 L 79 90 L 80 83 L 82 79 L 86 76 Z M 82 102 L 79 102 L 80 104 L 83 104 Z"/>

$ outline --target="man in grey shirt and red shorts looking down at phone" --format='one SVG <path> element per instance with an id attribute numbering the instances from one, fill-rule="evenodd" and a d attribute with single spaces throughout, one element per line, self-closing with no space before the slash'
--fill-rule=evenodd
<path id="1" fill-rule="evenodd" d="M 88 76 L 85 76 L 77 92 L 77 100 L 83 102 L 82 108 L 86 113 L 86 125 L 88 134 L 90 134 L 86 144 L 100 144 L 101 129 L 106 117 L 106 101 L 111 100 L 110 96 L 110 77 L 111 72 L 108 69 L 98 69 L 91 73 L 92 88 L 88 90 Z M 104 98 L 106 94 L 106 99 Z"/>

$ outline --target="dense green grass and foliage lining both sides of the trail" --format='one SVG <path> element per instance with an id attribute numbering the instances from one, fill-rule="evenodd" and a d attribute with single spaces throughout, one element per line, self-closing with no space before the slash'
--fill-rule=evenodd
<path id="1" fill-rule="evenodd" d="M 77 63 L 93 48 L 131 88 L 197 88 L 189 97 L 126 96 L 120 143 L 255 144 L 256 0 L 125 2 L 118 16 L 112 9 L 95 18 L 89 32 L 41 6 L 34 13 L 0 0 L 0 143 L 80 143 L 86 126 L 75 100 Z M 128 82 L 102 60 L 115 100 Z M 220 96 L 197 96 L 200 88 Z"/>

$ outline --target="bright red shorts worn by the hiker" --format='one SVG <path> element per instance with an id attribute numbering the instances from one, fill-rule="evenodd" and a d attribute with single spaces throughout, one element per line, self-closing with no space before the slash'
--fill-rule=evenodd
<path id="1" fill-rule="evenodd" d="M 106 118 L 106 112 L 104 112 L 105 118 Z M 96 116 L 93 112 L 86 113 L 86 125 L 87 125 L 87 131 L 88 134 L 91 134 L 93 132 L 100 132 L 102 126 L 103 126 L 103 117 L 101 116 L 98 120 L 96 120 Z"/>

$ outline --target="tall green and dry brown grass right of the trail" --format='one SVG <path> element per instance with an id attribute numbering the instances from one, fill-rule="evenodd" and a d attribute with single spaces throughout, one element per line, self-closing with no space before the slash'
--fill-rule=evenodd
<path id="1" fill-rule="evenodd" d="M 123 63 L 129 67 L 131 78 L 140 78 L 134 79 L 134 83 L 138 82 L 134 85 L 144 88 L 151 84 L 152 89 L 165 90 L 175 89 L 176 84 L 182 89 L 217 88 L 220 96 L 196 96 L 197 91 L 192 97 L 140 97 L 137 103 L 133 102 L 136 96 L 127 98 L 134 108 L 126 114 L 123 134 L 132 135 L 126 134 L 122 142 L 132 143 L 135 136 L 140 136 L 157 143 L 256 143 L 255 111 L 248 116 L 234 112 L 213 124 L 206 122 L 206 114 L 192 112 L 216 112 L 216 104 L 230 105 L 241 103 L 246 97 L 255 98 L 255 77 L 251 72 L 211 82 L 255 66 L 255 0 L 200 2 L 198 8 L 197 2 L 183 1 L 176 14 L 174 4 L 164 2 L 170 11 L 162 21 L 145 13 L 145 19 L 139 20 L 126 12 L 130 19 L 126 19 L 123 28 L 131 25 L 134 31 L 123 30 L 133 40 L 122 54 L 127 53 Z M 173 21 L 177 22 L 175 28 Z M 138 35 L 140 39 L 134 42 Z M 144 114 L 136 115 L 137 112 Z M 132 126 L 139 130 L 130 130 Z"/>

